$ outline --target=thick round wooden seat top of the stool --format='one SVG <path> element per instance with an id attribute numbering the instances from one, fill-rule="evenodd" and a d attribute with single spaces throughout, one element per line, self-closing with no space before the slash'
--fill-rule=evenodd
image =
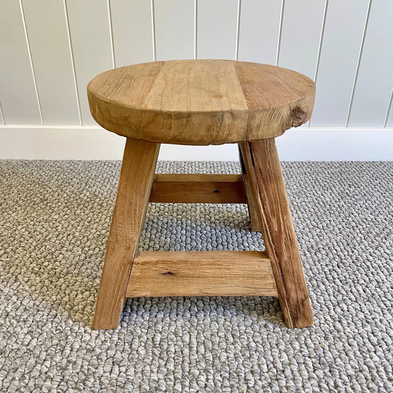
<path id="1" fill-rule="evenodd" d="M 208 145 L 275 138 L 311 117 L 315 84 L 286 68 L 233 60 L 170 60 L 103 72 L 90 111 L 116 134 Z"/>

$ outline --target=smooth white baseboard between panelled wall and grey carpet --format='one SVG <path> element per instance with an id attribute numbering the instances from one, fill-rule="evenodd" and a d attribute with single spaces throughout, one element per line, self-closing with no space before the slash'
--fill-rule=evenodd
<path id="1" fill-rule="evenodd" d="M 98 126 L 0 125 L 0 159 L 121 160 L 125 138 Z M 393 128 L 291 129 L 276 139 L 282 161 L 393 161 Z M 235 161 L 236 144 L 162 145 L 160 160 Z"/>

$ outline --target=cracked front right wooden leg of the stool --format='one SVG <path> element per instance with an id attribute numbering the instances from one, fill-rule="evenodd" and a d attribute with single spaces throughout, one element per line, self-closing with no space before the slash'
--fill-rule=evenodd
<path id="1" fill-rule="evenodd" d="M 275 140 L 256 140 L 239 145 L 285 322 L 289 328 L 312 326 L 309 293 Z"/>

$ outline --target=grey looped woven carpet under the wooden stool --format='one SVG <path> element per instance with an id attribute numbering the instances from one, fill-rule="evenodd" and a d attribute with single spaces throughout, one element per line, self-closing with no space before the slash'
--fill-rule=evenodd
<path id="1" fill-rule="evenodd" d="M 0 161 L 1 392 L 393 392 L 393 163 L 283 163 L 315 326 L 140 298 L 92 331 L 119 162 Z M 235 163 L 160 172 L 236 173 Z M 244 205 L 149 207 L 144 250 L 258 250 Z"/>

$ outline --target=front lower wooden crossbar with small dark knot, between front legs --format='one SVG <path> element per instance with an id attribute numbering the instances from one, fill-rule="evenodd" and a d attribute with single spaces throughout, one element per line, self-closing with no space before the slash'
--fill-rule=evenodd
<path id="1" fill-rule="evenodd" d="M 270 261 L 258 251 L 141 252 L 126 297 L 277 296 Z"/>

